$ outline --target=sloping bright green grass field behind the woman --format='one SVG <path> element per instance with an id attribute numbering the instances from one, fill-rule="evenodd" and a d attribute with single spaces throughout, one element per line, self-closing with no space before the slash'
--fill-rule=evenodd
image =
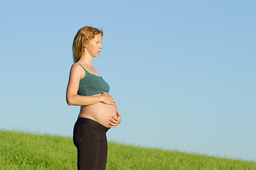
<path id="1" fill-rule="evenodd" d="M 71 137 L 0 131 L 0 169 L 76 169 Z M 109 142 L 107 169 L 256 169 L 256 162 Z"/>

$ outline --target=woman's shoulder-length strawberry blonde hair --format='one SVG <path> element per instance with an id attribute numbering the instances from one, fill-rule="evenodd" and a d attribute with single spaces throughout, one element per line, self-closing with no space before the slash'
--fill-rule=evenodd
<path id="1" fill-rule="evenodd" d="M 90 26 L 85 26 L 78 30 L 73 40 L 73 60 L 78 62 L 83 52 L 83 45 L 87 45 L 90 40 L 95 38 L 95 35 L 100 34 L 103 36 L 103 31 Z"/>

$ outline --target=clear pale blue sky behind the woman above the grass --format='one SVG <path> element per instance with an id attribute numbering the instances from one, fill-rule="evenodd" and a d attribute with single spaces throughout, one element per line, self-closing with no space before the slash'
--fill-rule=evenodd
<path id="1" fill-rule="evenodd" d="M 3 1 L 0 128 L 72 137 L 71 46 L 104 30 L 93 64 L 122 124 L 109 141 L 256 161 L 255 1 Z"/>

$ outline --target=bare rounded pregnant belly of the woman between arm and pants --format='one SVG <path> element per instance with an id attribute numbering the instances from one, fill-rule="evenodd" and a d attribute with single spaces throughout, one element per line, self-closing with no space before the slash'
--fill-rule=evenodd
<path id="1" fill-rule="evenodd" d="M 95 96 L 100 95 L 96 94 Z M 90 118 L 97 123 L 110 128 L 110 119 L 117 115 L 117 106 L 105 103 L 96 103 L 89 106 L 81 106 L 78 118 Z"/>

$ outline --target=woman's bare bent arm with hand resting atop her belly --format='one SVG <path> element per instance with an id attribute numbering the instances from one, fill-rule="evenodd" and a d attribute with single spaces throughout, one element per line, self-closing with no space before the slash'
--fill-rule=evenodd
<path id="1" fill-rule="evenodd" d="M 82 67 L 80 67 L 79 64 L 73 64 L 70 69 L 70 77 L 66 93 L 66 101 L 68 105 L 87 106 L 101 102 L 116 106 L 114 99 L 108 94 L 102 94 L 101 96 L 78 95 L 79 82 L 84 75 L 85 71 L 82 69 Z"/>

